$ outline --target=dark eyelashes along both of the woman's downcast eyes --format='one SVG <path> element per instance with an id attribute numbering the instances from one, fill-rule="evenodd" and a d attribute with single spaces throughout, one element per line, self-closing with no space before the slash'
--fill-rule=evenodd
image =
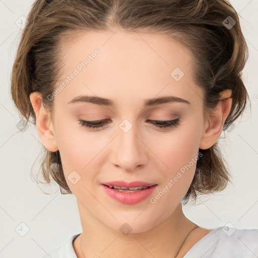
<path id="1" fill-rule="evenodd" d="M 95 129 L 95 128 L 103 127 L 104 124 L 105 124 L 103 122 L 105 122 L 106 119 L 98 120 L 98 121 L 85 121 L 85 120 L 82 120 L 82 119 L 78 119 L 78 121 L 79 121 L 79 124 L 82 125 L 82 126 Z M 155 122 L 155 123 L 152 123 L 152 124 L 156 124 L 156 125 L 152 125 L 152 126 L 158 127 L 158 128 L 171 128 L 171 127 L 176 127 L 179 124 L 179 118 L 176 118 L 176 119 L 173 119 L 173 120 L 165 120 L 165 121 L 158 121 L 158 120 L 150 120 L 150 121 Z M 161 123 L 161 125 L 157 125 L 159 123 Z"/>

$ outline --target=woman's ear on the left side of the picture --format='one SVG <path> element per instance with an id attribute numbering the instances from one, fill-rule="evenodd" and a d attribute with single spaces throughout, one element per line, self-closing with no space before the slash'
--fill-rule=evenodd
<path id="1" fill-rule="evenodd" d="M 30 101 L 36 115 L 36 128 L 39 138 L 45 148 L 51 152 L 58 150 L 53 122 L 50 114 L 44 109 L 42 105 L 42 95 L 40 92 L 32 92 L 30 94 Z"/>

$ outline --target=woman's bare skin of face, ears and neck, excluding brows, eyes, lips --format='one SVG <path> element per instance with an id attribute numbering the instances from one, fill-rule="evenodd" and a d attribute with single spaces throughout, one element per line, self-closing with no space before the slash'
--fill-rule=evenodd
<path id="1" fill-rule="evenodd" d="M 74 249 L 79 258 L 174 257 L 186 235 L 197 226 L 185 217 L 180 203 L 196 163 L 155 204 L 150 198 L 198 155 L 199 148 L 208 149 L 216 143 L 232 99 L 220 101 L 204 117 L 203 90 L 193 80 L 191 52 L 164 35 L 119 30 L 115 34 L 82 32 L 72 44 L 64 43 L 61 60 L 66 66 L 56 86 L 95 48 L 100 53 L 54 97 L 53 119 L 42 106 L 41 94 L 30 95 L 42 143 L 49 151 L 59 150 L 66 179 L 74 170 L 81 176 L 76 184 L 67 179 L 77 198 L 83 229 Z M 184 73 L 178 82 L 170 76 L 177 67 Z M 111 99 L 115 106 L 68 104 L 79 95 Z M 224 91 L 221 98 L 230 95 Z M 176 96 L 190 104 L 173 102 L 144 108 L 144 100 L 161 96 Z M 91 130 L 80 125 L 78 117 L 109 119 L 110 123 Z M 167 129 L 146 122 L 178 117 L 179 124 Z M 133 126 L 127 133 L 119 127 L 123 119 Z M 158 187 L 150 198 L 125 205 L 111 199 L 100 185 L 113 180 L 141 180 Z M 127 235 L 119 231 L 124 223 L 132 228 Z M 193 230 L 177 257 L 209 232 L 201 227 Z"/>

